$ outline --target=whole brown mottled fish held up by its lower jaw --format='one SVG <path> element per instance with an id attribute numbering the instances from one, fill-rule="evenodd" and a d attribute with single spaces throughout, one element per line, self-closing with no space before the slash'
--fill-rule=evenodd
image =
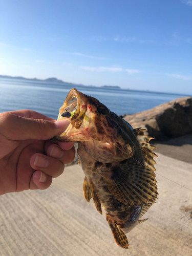
<path id="1" fill-rule="evenodd" d="M 153 138 L 76 89 L 59 109 L 57 120 L 66 118 L 69 126 L 53 140 L 78 142 L 84 199 L 105 211 L 115 242 L 127 249 L 126 233 L 147 220 L 140 218 L 158 196 Z"/>

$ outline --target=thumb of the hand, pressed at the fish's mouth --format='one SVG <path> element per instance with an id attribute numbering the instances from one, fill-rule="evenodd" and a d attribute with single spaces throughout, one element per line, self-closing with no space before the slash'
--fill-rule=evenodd
<path id="1" fill-rule="evenodd" d="M 50 121 L 33 119 L 5 113 L 0 119 L 0 131 L 11 140 L 47 140 L 61 134 L 70 124 L 70 120 Z"/>

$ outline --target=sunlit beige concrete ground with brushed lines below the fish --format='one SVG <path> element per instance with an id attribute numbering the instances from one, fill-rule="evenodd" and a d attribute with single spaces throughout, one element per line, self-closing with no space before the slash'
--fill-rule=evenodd
<path id="1" fill-rule="evenodd" d="M 192 206 L 192 191 L 162 177 L 192 189 L 192 164 L 161 154 L 155 160 L 157 203 L 127 234 L 129 249 L 116 245 L 104 211 L 84 200 L 84 175 L 73 165 L 47 190 L 0 197 L 0 255 L 192 255 L 192 219 L 180 210 Z"/>

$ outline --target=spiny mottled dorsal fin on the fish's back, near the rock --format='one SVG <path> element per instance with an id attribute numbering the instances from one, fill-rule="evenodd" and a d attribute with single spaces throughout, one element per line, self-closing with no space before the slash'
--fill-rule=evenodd
<path id="1" fill-rule="evenodd" d="M 148 143 L 150 142 L 151 139 L 154 139 L 154 138 L 144 135 L 145 130 L 146 129 L 136 128 L 133 130 L 133 133 L 136 135 L 141 145 L 145 166 L 155 171 L 156 169 L 154 167 L 154 164 L 156 164 L 156 161 L 154 160 L 154 157 L 157 157 L 157 155 L 153 152 L 153 150 L 156 147 Z"/>

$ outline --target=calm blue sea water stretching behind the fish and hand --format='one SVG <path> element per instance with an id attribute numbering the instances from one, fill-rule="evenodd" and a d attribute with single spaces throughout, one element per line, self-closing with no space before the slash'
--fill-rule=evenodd
<path id="1" fill-rule="evenodd" d="M 0 78 L 0 112 L 30 109 L 57 119 L 60 106 L 74 87 L 117 115 L 134 114 L 184 96 Z"/>

